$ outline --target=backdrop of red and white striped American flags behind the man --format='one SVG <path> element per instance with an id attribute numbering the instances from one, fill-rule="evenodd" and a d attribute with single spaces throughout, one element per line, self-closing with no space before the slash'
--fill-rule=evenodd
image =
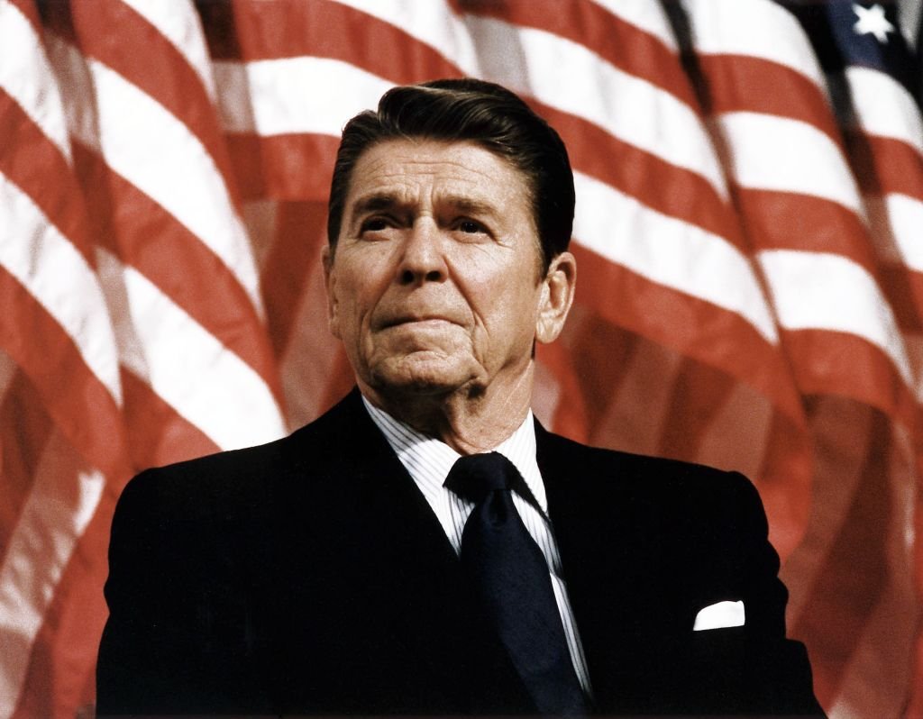
<path id="1" fill-rule="evenodd" d="M 318 268 L 340 129 L 463 75 L 526 97 L 576 174 L 577 303 L 536 413 L 749 474 L 825 708 L 923 715 L 919 16 L 0 0 L 0 716 L 91 713 L 132 473 L 351 386 Z"/>

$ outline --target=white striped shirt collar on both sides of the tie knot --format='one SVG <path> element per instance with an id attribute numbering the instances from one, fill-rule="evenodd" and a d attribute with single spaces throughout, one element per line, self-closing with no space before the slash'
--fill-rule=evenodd
<path id="1" fill-rule="evenodd" d="M 378 409 L 366 400 L 365 396 L 362 401 L 372 421 L 381 430 L 391 449 L 394 449 L 423 493 L 430 496 L 434 492 L 442 491 L 442 483 L 449 475 L 452 465 L 462 455 L 442 440 L 426 437 L 411 425 Z M 526 413 L 522 424 L 509 437 L 488 451 L 499 452 L 513 463 L 539 507 L 547 513 L 548 500 L 545 495 L 545 483 L 542 482 L 538 461 L 535 460 L 535 422 L 532 410 Z"/>

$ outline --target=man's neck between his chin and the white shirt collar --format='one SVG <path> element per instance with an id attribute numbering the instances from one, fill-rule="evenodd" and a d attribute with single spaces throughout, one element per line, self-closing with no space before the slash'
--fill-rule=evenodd
<path id="1" fill-rule="evenodd" d="M 532 387 L 532 366 L 511 386 L 441 393 L 373 389 L 359 382 L 372 404 L 460 454 L 488 451 L 512 435 L 529 413 Z"/>

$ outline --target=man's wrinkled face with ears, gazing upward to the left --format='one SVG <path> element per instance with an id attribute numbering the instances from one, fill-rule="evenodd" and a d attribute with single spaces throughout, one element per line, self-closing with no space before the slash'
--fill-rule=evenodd
<path id="1" fill-rule="evenodd" d="M 515 383 L 533 340 L 560 329 L 549 328 L 560 293 L 542 276 L 525 178 L 470 142 L 366 150 L 324 266 L 330 330 L 360 385 L 384 394 Z"/>

